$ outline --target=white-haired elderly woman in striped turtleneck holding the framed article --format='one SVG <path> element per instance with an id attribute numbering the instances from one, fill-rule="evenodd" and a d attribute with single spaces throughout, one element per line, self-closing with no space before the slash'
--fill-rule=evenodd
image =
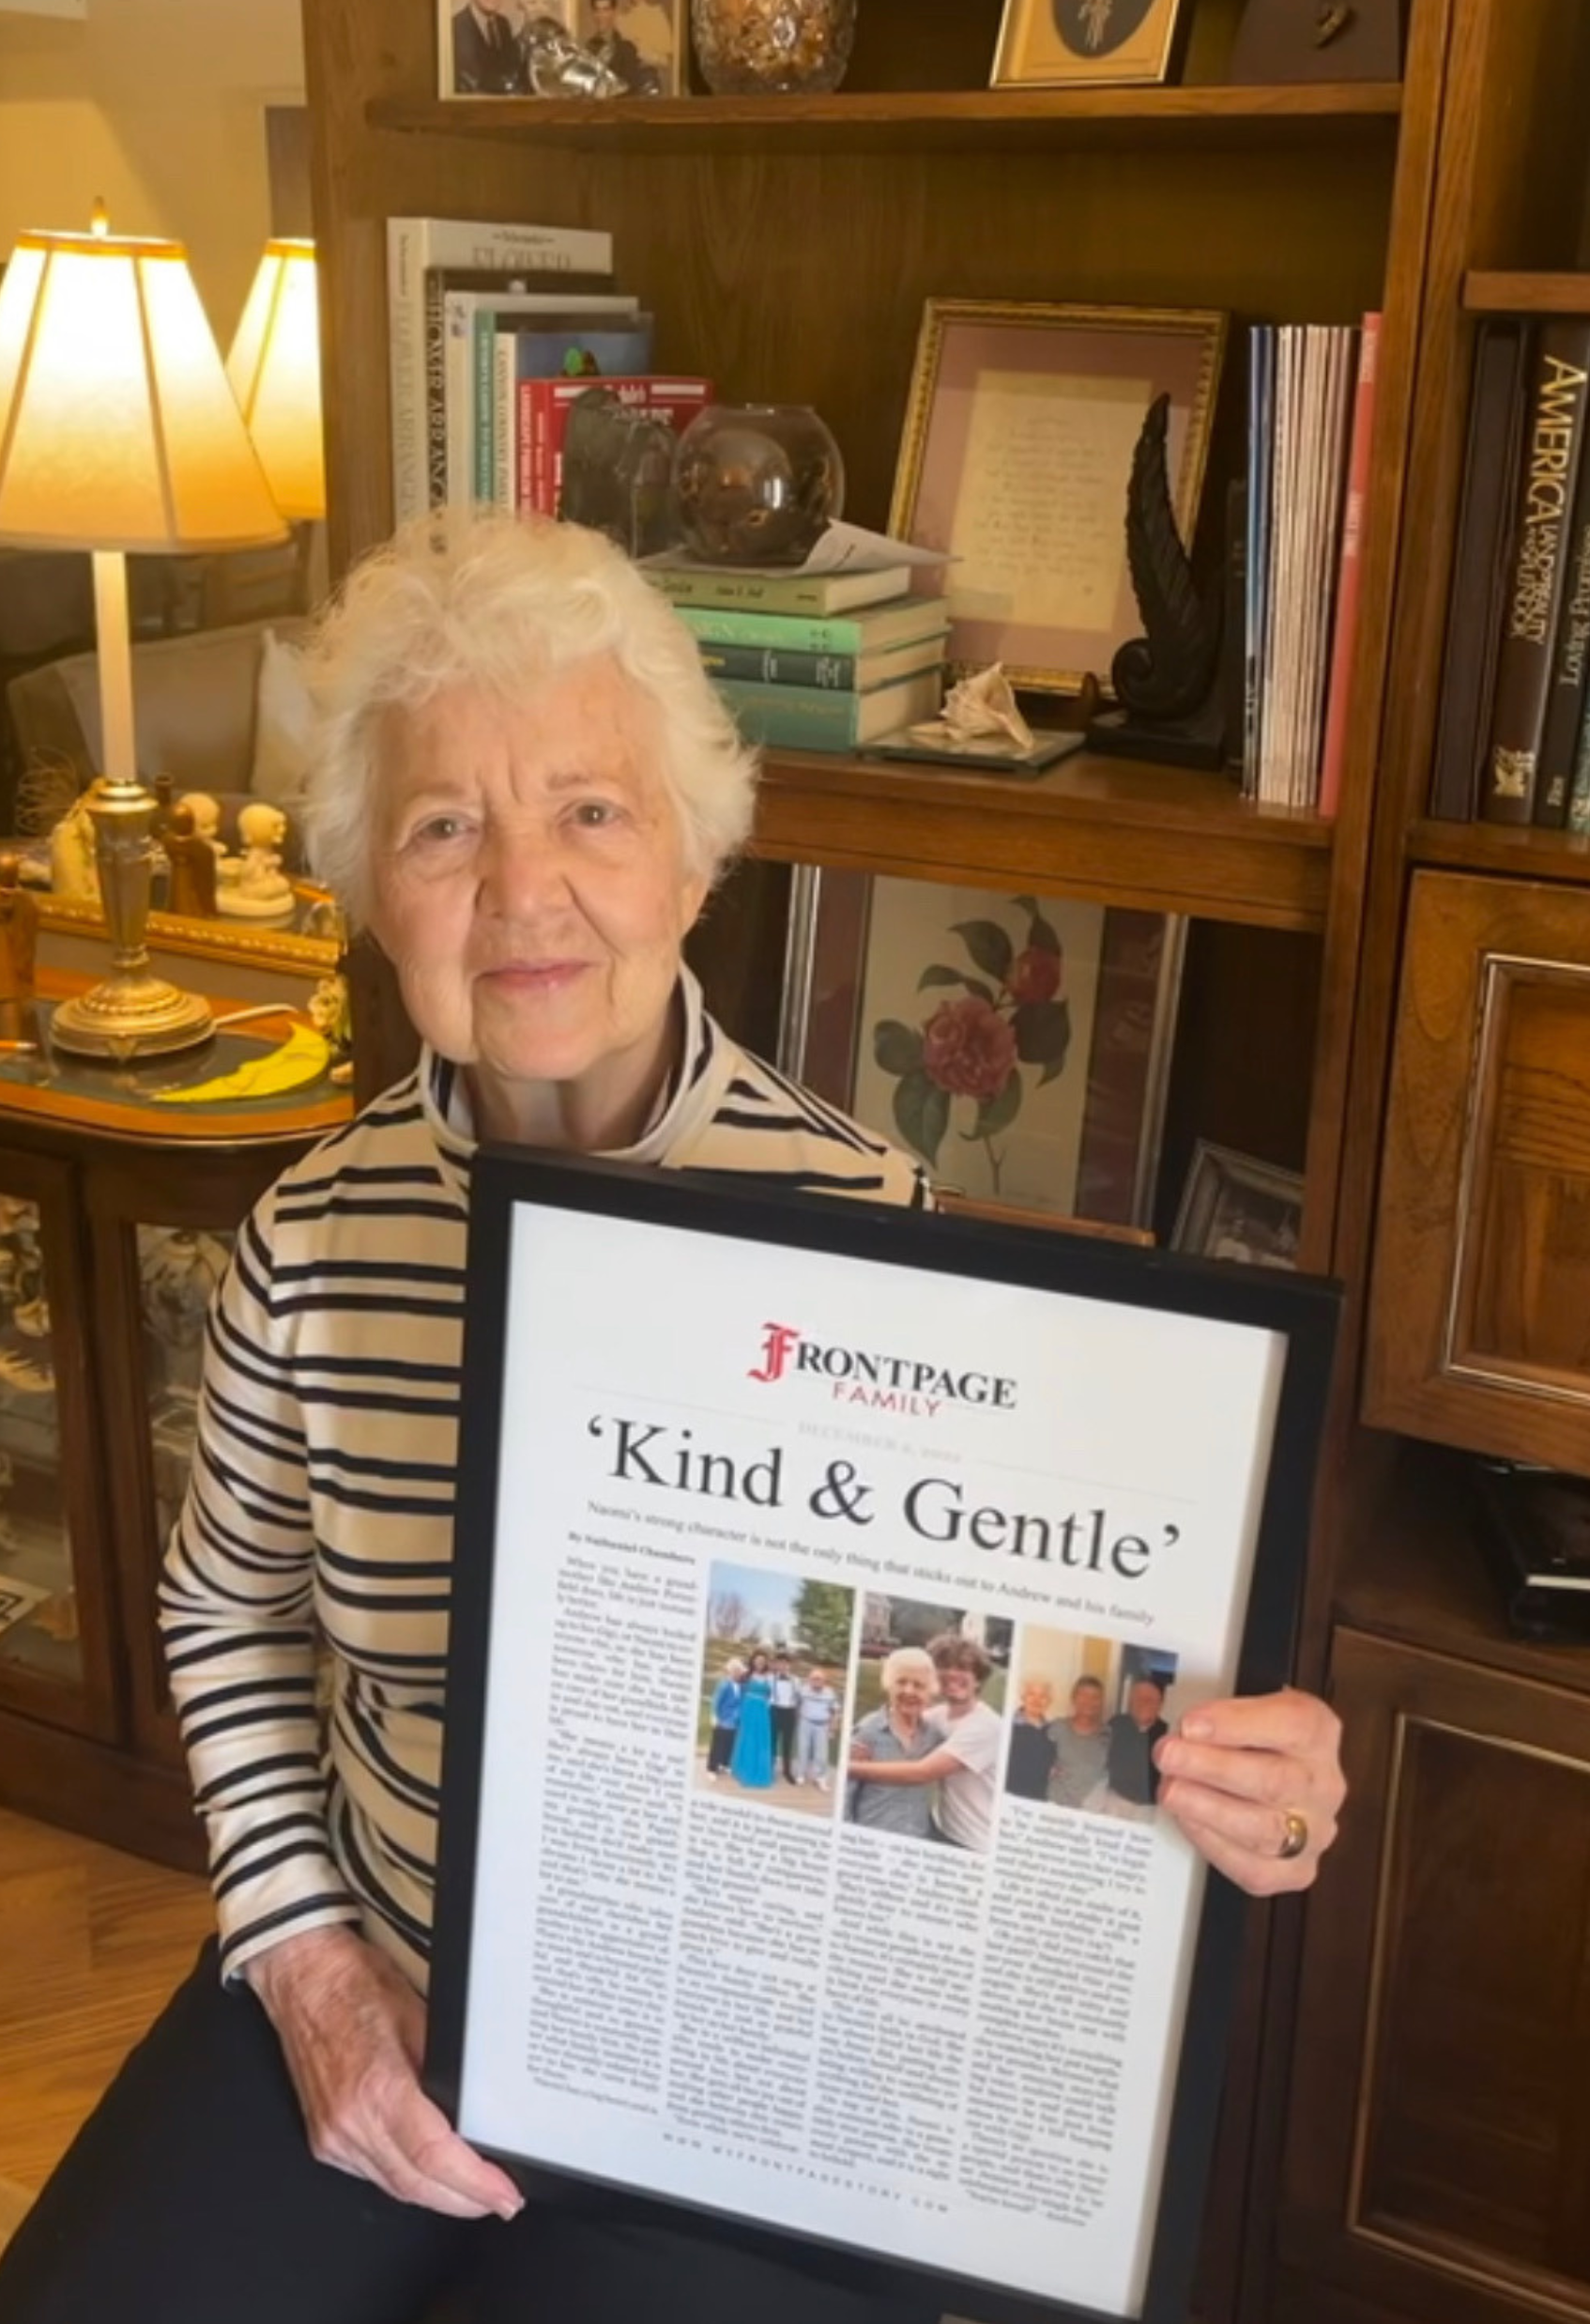
<path id="1" fill-rule="evenodd" d="M 560 2182 L 525 2203 L 418 2061 L 477 1139 L 902 1204 L 923 1183 L 702 1011 L 681 944 L 746 837 L 753 767 L 609 544 L 421 525 L 351 576 L 314 683 L 314 860 L 395 962 L 423 1053 L 284 1174 L 219 1292 L 160 1599 L 219 1941 L 0 2264 L 0 2312 L 404 2324 L 460 2280 L 470 2315 L 514 2324 L 921 2308 L 816 2247 L 774 2264 Z M 1313 1875 L 1339 1801 L 1323 1706 L 1202 1708 L 1160 1764 L 1220 1868 Z M 1288 1810 L 1309 1848 L 1283 1859 Z"/>

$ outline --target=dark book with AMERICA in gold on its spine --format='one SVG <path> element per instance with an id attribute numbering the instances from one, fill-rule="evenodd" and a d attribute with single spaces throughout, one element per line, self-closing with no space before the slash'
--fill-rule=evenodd
<path id="1" fill-rule="evenodd" d="M 1590 321 L 1564 316 L 1546 323 L 1530 381 L 1511 581 L 1481 788 L 1481 816 L 1488 823 L 1530 823 L 1534 816 L 1588 390 Z"/>

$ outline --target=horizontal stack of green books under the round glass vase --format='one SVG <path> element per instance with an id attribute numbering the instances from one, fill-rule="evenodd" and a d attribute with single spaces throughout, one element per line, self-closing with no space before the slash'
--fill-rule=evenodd
<path id="1" fill-rule="evenodd" d="M 646 576 L 695 630 L 749 741 L 860 751 L 939 711 L 948 607 L 914 597 L 904 565 L 809 574 L 651 560 Z"/>

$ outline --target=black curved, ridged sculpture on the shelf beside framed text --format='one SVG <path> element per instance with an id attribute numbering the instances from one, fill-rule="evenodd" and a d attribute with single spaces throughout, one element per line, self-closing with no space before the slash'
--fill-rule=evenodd
<path id="1" fill-rule="evenodd" d="M 1155 395 L 1132 453 L 1127 569 L 1144 634 L 1109 665 L 1118 709 L 1088 725 L 1088 748 L 1158 758 L 1169 767 L 1220 767 L 1220 604 L 1197 586 L 1169 490 L 1169 395 Z"/>

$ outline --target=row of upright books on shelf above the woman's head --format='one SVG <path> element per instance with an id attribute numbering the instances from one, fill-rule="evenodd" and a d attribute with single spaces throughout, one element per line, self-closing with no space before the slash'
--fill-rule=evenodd
<path id="1" fill-rule="evenodd" d="M 651 372 L 651 316 L 614 286 L 611 235 L 386 221 L 393 507 L 558 511 L 572 402 L 611 388 L 683 430 L 707 379 Z"/>

